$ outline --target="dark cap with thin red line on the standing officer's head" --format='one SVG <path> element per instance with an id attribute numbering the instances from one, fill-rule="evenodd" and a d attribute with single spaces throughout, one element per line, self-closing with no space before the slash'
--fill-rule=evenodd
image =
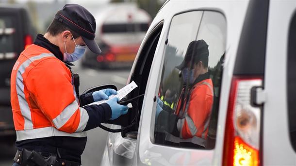
<path id="1" fill-rule="evenodd" d="M 55 15 L 54 18 L 80 34 L 89 50 L 94 53 L 101 53 L 98 44 L 94 40 L 96 32 L 95 17 L 84 7 L 78 4 L 66 4 L 61 13 Z"/>

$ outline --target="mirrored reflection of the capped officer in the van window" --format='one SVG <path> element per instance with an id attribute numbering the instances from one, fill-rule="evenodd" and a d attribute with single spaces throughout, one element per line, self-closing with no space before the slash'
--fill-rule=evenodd
<path id="1" fill-rule="evenodd" d="M 176 66 L 186 84 L 176 110 L 170 109 L 159 99 L 156 109 L 158 125 L 171 124 L 165 128 L 166 132 L 181 138 L 181 142 L 191 142 L 201 147 L 205 147 L 214 100 L 213 82 L 208 71 L 208 47 L 204 40 L 189 44 L 183 62 Z M 164 124 L 162 119 L 168 119 L 169 124 Z M 172 138 L 168 135 L 165 137 L 170 141 Z"/>

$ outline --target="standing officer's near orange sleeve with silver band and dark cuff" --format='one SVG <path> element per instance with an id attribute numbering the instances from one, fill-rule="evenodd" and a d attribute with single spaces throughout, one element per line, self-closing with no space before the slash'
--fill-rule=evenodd
<path id="1" fill-rule="evenodd" d="M 88 123 L 96 121 L 99 124 L 111 117 L 111 109 L 107 106 L 80 107 L 71 81 L 69 69 L 57 59 L 49 58 L 28 72 L 24 84 L 42 113 L 60 131 L 82 132 Z M 89 112 L 99 112 L 99 117 L 90 118 Z"/>

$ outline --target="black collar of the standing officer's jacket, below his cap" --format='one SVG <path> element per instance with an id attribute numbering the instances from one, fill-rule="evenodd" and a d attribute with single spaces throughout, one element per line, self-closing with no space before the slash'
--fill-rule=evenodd
<path id="1" fill-rule="evenodd" d="M 64 62 L 63 53 L 60 51 L 60 48 L 49 42 L 42 34 L 37 34 L 34 44 L 40 47 L 43 47 L 53 53 L 59 60 Z"/>

